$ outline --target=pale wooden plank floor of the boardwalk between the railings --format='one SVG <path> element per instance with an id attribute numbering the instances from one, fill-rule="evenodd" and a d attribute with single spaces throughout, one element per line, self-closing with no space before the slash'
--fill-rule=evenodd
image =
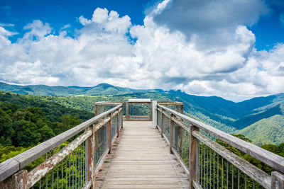
<path id="1" fill-rule="evenodd" d="M 188 188 L 187 174 L 152 122 L 124 122 L 97 176 L 98 188 Z"/>

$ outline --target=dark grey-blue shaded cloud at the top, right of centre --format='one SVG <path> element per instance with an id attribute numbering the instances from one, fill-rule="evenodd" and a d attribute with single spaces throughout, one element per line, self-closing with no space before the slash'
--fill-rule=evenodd
<path id="1" fill-rule="evenodd" d="M 238 25 L 252 25 L 268 8 L 260 0 L 176 0 L 169 1 L 161 13 L 154 16 L 158 25 L 179 30 L 198 47 L 230 45 Z"/>

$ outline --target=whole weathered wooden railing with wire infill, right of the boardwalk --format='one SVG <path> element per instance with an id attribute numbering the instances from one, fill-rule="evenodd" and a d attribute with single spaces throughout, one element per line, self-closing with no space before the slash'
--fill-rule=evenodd
<path id="1" fill-rule="evenodd" d="M 284 188 L 284 158 L 158 103 L 157 127 L 189 176 L 190 188 Z M 207 137 L 207 136 L 209 137 Z M 276 171 L 271 175 L 222 147 L 220 139 Z"/>

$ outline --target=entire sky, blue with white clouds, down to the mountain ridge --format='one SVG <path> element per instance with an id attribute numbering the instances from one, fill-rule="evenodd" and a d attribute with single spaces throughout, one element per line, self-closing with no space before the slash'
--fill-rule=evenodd
<path id="1" fill-rule="evenodd" d="M 284 1 L 0 0 L 0 81 L 284 92 Z"/>

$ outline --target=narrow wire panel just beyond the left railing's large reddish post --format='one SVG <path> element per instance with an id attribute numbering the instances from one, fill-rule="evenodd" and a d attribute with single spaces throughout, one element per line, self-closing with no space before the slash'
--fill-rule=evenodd
<path id="1" fill-rule="evenodd" d="M 94 151 L 94 164 L 95 167 L 99 164 L 102 160 L 102 156 L 104 155 L 105 151 L 108 149 L 108 123 L 97 130 L 97 139 L 96 147 Z"/>

